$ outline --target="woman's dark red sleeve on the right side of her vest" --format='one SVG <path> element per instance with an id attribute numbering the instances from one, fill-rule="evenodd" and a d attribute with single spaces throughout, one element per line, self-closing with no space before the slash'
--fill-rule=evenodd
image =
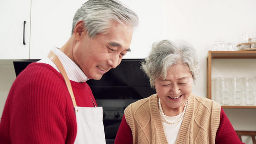
<path id="1" fill-rule="evenodd" d="M 220 111 L 219 129 L 216 133 L 215 144 L 244 144 L 240 141 L 223 108 Z"/>

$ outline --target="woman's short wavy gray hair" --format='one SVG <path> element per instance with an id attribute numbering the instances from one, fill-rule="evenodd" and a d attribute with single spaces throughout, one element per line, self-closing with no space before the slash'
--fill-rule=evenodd
<path id="1" fill-rule="evenodd" d="M 166 79 L 168 69 L 177 63 L 187 64 L 195 82 L 199 73 L 199 59 L 195 48 L 185 41 L 174 43 L 162 40 L 154 43 L 149 56 L 142 62 L 143 71 L 149 78 L 151 87 L 158 78 Z"/>

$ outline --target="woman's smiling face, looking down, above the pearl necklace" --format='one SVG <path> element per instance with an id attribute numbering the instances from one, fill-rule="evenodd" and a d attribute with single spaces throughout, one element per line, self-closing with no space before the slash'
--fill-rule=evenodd
<path id="1" fill-rule="evenodd" d="M 165 115 L 168 111 L 183 111 L 184 103 L 192 93 L 193 77 L 187 64 L 172 65 L 167 71 L 167 78 L 155 81 L 157 95 L 161 100 Z M 169 114 L 172 116 L 172 114 Z"/>

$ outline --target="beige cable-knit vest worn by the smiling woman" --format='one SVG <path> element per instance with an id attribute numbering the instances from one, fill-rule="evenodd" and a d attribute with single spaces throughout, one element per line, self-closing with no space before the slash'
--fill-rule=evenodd
<path id="1" fill-rule="evenodd" d="M 156 94 L 129 105 L 124 114 L 133 133 L 133 144 L 168 144 Z M 176 144 L 215 144 L 219 117 L 220 105 L 217 102 L 189 96 Z"/>

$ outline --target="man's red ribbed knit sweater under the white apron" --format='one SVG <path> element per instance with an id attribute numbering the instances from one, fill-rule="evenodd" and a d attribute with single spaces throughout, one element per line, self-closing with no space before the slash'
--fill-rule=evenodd
<path id="1" fill-rule="evenodd" d="M 77 106 L 94 107 L 88 84 L 71 84 Z M 28 65 L 7 97 L 0 144 L 73 144 L 76 132 L 73 103 L 62 75 L 48 64 Z"/>

